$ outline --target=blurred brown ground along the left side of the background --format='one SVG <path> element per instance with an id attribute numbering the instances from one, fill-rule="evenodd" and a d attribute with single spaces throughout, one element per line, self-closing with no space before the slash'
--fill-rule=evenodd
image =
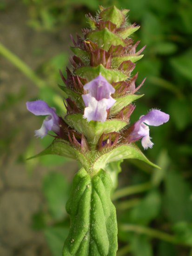
<path id="1" fill-rule="evenodd" d="M 61 51 L 68 51 L 70 28 L 53 33 L 38 33 L 27 27 L 27 10 L 17 0 L 8 0 L 8 8 L 0 12 L 0 42 L 36 69 L 42 62 Z M 74 28 L 75 29 L 75 28 Z M 58 36 L 60 37 L 58 40 Z M 43 56 L 34 56 L 35 47 L 43 48 Z M 26 111 L 26 101 L 37 97 L 38 89 L 9 61 L 0 56 L 0 104 L 7 94 L 19 94 L 26 88 L 25 99 L 0 113 L 0 137 L 7 141 L 0 155 L 0 256 L 50 256 L 41 232 L 30 227 L 31 216 L 38 211 L 43 197 L 40 191 L 46 167 L 35 168 L 28 175 L 25 165 L 16 160 L 25 152 L 40 120 Z M 35 139 L 36 140 L 36 139 Z M 70 164 L 71 179 L 77 165 Z M 62 167 L 57 170 L 65 172 Z"/>

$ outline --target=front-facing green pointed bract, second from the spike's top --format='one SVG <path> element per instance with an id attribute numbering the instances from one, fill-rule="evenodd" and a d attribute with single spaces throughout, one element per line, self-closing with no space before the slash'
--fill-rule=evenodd
<path id="1" fill-rule="evenodd" d="M 86 34 L 86 38 L 97 43 L 97 45 L 108 51 L 111 45 L 126 46 L 126 41 L 117 34 L 109 31 L 106 27 L 102 30 L 94 30 Z"/>

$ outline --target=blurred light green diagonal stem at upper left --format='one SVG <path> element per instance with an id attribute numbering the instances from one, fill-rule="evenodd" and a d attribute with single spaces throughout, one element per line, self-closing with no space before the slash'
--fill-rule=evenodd
<path id="1" fill-rule="evenodd" d="M 9 51 L 5 46 L 0 43 L 0 54 L 9 60 L 15 67 L 17 67 L 23 74 L 26 75 L 31 81 L 35 83 L 38 88 L 45 87 L 45 82 L 41 80 L 33 70 L 21 61 L 19 57 Z"/>

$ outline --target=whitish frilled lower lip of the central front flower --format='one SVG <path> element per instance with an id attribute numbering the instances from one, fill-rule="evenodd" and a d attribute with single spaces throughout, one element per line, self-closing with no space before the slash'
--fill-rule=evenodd
<path id="1" fill-rule="evenodd" d="M 86 118 L 87 121 L 106 121 L 107 112 L 106 112 L 106 99 L 97 101 L 94 97 L 91 97 L 89 101 L 89 106 L 85 108 L 83 118 Z"/>

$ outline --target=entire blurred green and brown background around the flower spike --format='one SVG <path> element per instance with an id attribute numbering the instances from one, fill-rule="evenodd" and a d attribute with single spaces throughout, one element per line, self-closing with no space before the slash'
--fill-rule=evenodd
<path id="1" fill-rule="evenodd" d="M 141 25 L 133 38 L 147 46 L 134 70 L 138 84 L 147 78 L 140 89 L 145 96 L 131 122 L 150 108 L 170 115 L 168 123 L 150 128 L 154 146 L 145 151 L 161 170 L 121 163 L 113 194 L 117 255 L 192 256 L 192 1 L 0 0 L 2 256 L 61 255 L 69 228 L 65 203 L 79 167 L 59 156 L 26 161 L 52 138 L 33 137 L 43 119 L 27 112 L 25 103 L 42 99 L 63 114 L 58 70 L 72 54 L 69 34 L 81 34 L 86 13 L 113 4 L 130 9 L 129 20 Z"/>

